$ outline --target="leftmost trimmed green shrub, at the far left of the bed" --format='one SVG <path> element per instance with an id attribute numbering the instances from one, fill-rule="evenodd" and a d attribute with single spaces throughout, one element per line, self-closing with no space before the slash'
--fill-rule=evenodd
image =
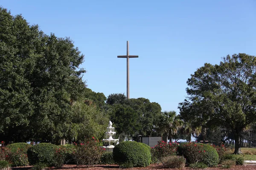
<path id="1" fill-rule="evenodd" d="M 27 166 L 29 160 L 27 156 L 27 150 L 31 147 L 27 143 L 13 143 L 6 146 L 10 149 L 10 161 L 13 167 Z"/>

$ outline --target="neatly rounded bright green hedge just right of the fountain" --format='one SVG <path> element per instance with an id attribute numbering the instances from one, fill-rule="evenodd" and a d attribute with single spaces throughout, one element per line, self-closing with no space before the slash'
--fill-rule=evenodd
<path id="1" fill-rule="evenodd" d="M 133 167 L 146 167 L 150 164 L 150 147 L 139 142 L 121 142 L 113 149 L 114 161 L 121 164 L 132 164 Z"/>

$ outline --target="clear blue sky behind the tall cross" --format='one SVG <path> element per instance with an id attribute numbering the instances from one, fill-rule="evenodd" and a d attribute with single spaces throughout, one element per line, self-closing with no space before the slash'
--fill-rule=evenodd
<path id="1" fill-rule="evenodd" d="M 84 54 L 87 87 L 126 95 L 130 42 L 130 98 L 179 111 L 186 81 L 205 62 L 227 54 L 256 55 L 255 0 L 0 0 L 46 34 L 70 37 Z"/>

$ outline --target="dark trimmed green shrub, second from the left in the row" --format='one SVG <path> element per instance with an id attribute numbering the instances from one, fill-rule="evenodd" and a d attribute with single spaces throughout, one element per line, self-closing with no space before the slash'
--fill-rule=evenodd
<path id="1" fill-rule="evenodd" d="M 44 163 L 47 166 L 55 166 L 55 152 L 58 148 L 55 144 L 40 143 L 29 148 L 28 159 L 29 164 Z"/>

